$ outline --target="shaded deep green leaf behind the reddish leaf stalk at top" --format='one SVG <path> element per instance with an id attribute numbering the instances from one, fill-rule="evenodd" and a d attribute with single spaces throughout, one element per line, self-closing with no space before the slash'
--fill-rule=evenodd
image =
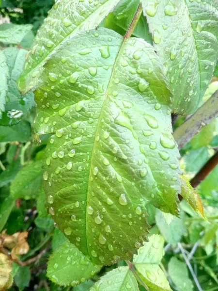
<path id="1" fill-rule="evenodd" d="M 114 11 L 106 17 L 104 27 L 125 35 L 139 3 L 140 0 L 121 0 Z M 143 15 L 140 16 L 133 35 L 145 39 L 148 43 L 152 43 L 152 37 L 148 31 L 146 18 Z"/>

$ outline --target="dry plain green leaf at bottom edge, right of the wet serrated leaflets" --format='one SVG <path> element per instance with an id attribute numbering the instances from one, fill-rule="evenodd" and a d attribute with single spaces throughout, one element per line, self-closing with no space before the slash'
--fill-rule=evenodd
<path id="1" fill-rule="evenodd" d="M 193 285 L 188 277 L 187 266 L 184 262 L 172 257 L 168 265 L 168 272 L 179 291 L 193 291 Z"/>

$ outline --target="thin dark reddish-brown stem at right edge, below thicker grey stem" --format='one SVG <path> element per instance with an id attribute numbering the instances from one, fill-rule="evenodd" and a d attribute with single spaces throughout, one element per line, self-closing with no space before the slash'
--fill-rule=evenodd
<path id="1" fill-rule="evenodd" d="M 196 188 L 206 176 L 216 167 L 218 164 L 218 152 L 210 158 L 208 162 L 201 168 L 201 170 L 190 180 L 190 184 L 193 188 Z"/>

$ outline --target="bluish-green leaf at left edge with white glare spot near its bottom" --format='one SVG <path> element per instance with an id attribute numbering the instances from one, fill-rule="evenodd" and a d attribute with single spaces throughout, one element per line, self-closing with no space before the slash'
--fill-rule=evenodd
<path id="1" fill-rule="evenodd" d="M 9 69 L 5 112 L 0 119 L 0 125 L 13 125 L 19 122 L 34 106 L 33 93 L 21 96 L 16 85 L 16 80 L 22 70 L 27 50 L 8 48 L 4 49 L 6 63 Z"/>

